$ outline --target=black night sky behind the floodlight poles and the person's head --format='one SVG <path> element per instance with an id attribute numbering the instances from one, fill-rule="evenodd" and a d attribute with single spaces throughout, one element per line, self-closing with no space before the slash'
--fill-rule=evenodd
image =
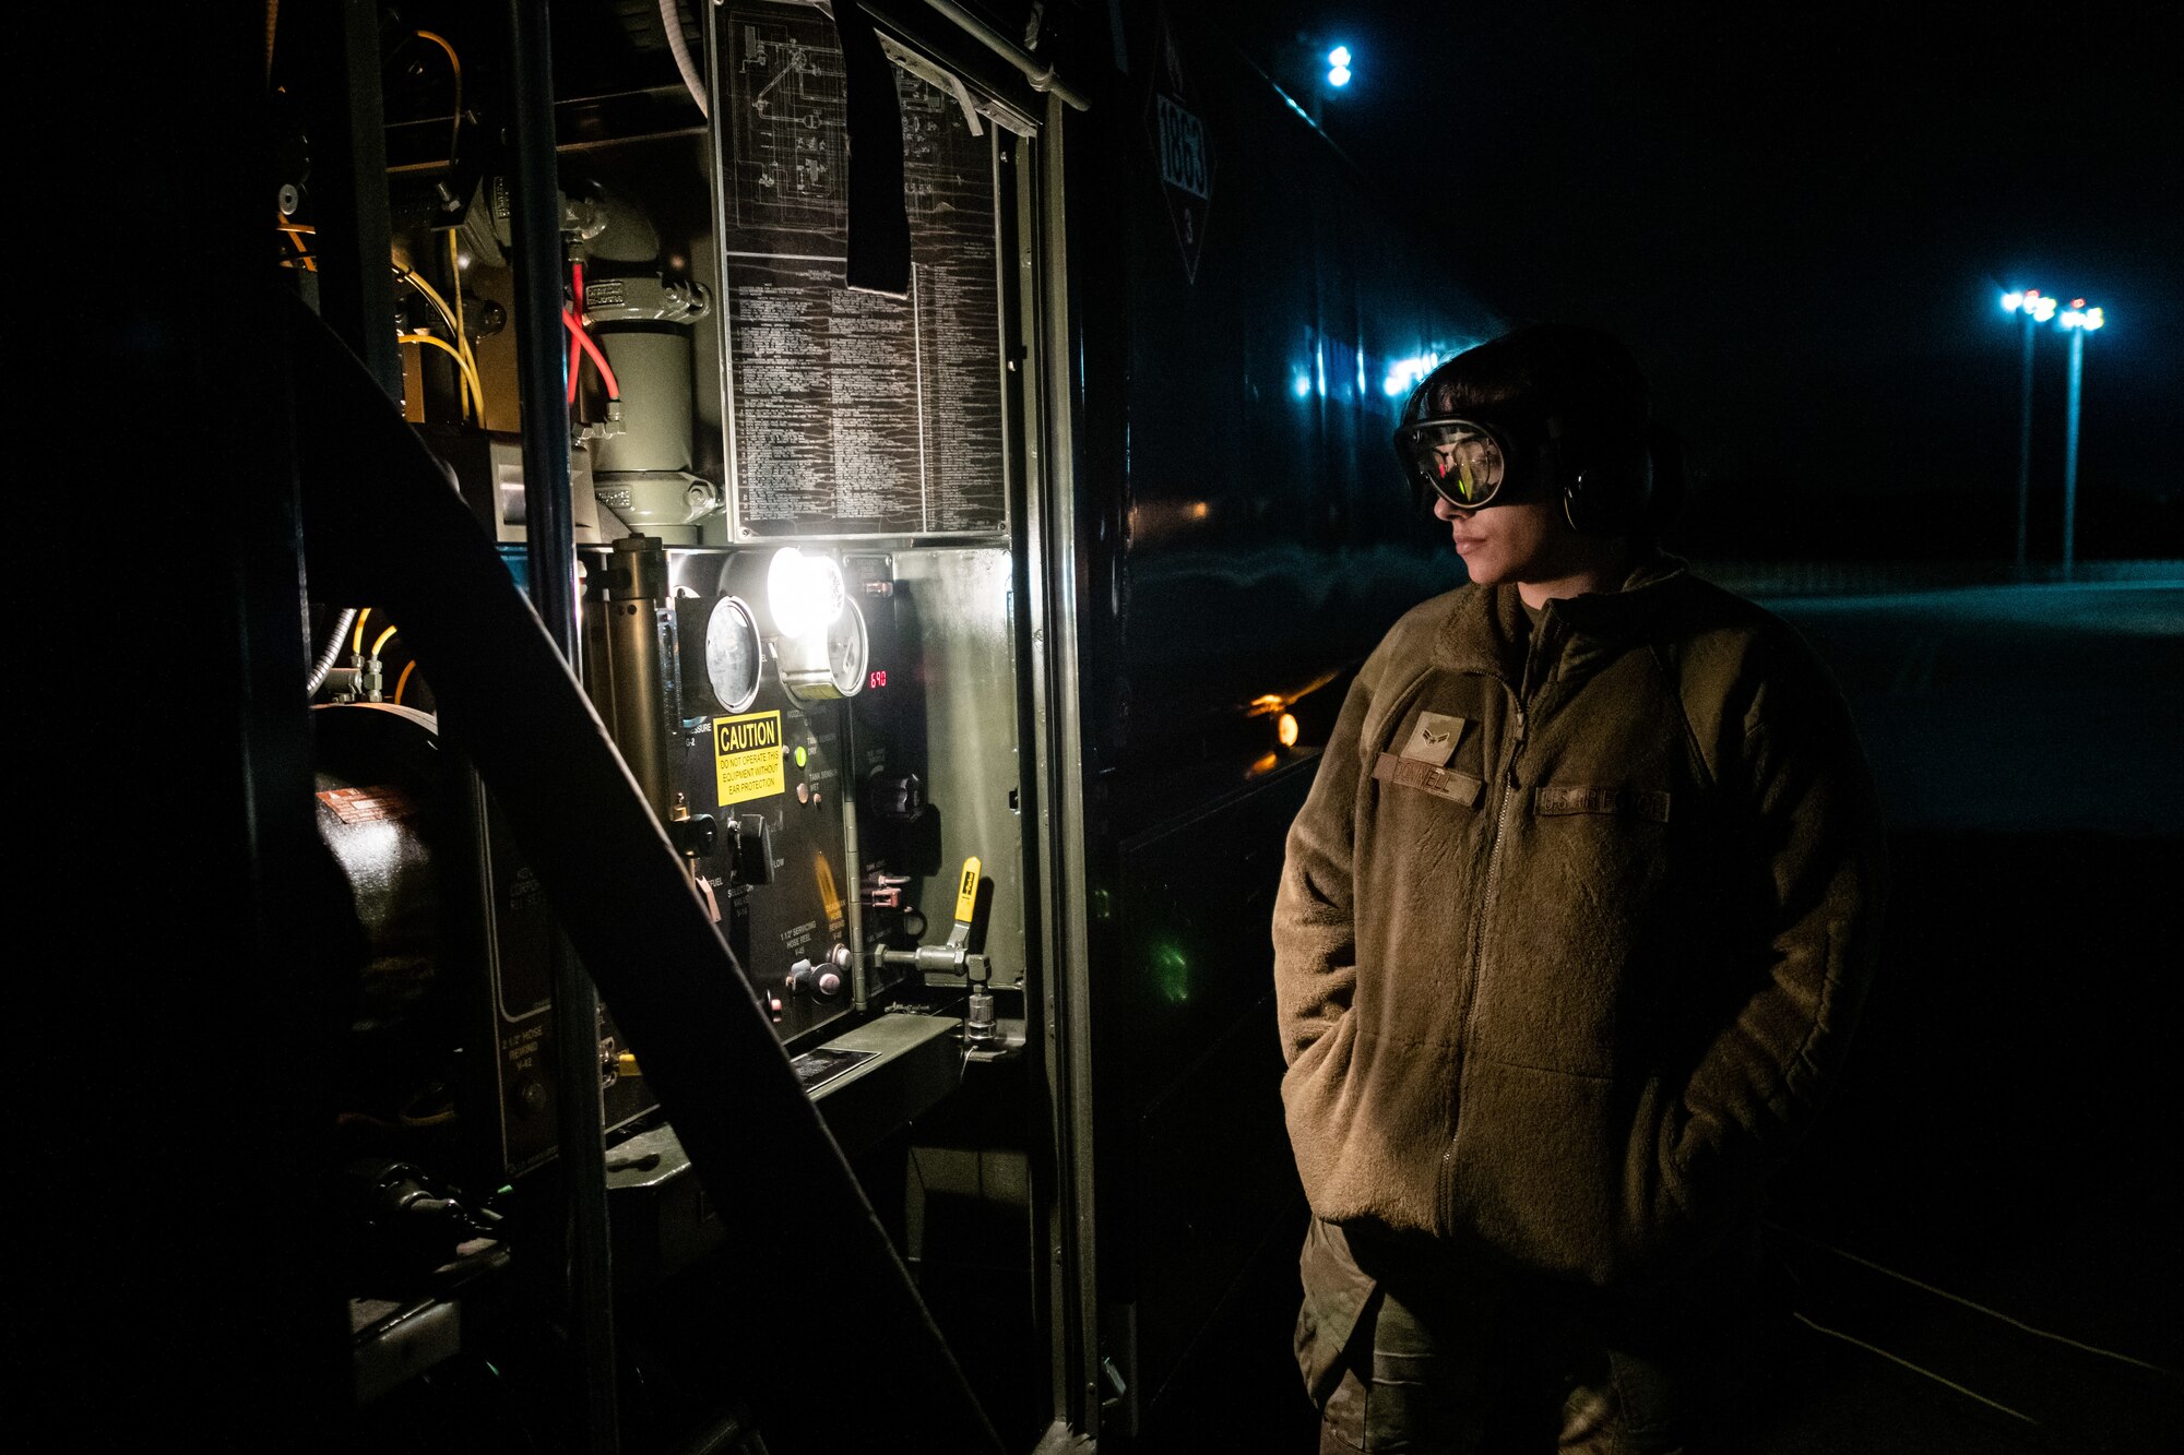
<path id="1" fill-rule="evenodd" d="M 2121 7 L 1275 2 L 1238 31 L 1514 321 L 1623 336 L 1719 553 L 2007 557 L 2018 323 L 2101 304 L 2079 555 L 2184 557 L 2184 85 Z M 1299 42 L 1299 33 L 1304 39 Z M 2033 559 L 2062 533 L 2042 330 Z"/>

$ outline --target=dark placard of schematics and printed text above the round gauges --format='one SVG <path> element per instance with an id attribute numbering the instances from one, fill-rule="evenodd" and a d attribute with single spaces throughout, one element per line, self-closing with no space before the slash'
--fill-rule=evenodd
<path id="1" fill-rule="evenodd" d="M 734 537 L 1005 533 L 996 131 L 895 74 L 911 295 L 852 293 L 832 24 L 740 4 L 721 46 Z"/>

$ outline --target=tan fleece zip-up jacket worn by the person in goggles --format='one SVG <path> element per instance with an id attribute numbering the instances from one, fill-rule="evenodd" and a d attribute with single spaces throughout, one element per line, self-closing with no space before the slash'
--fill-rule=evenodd
<path id="1" fill-rule="evenodd" d="M 1529 638 L 1529 640 L 1527 640 Z M 1756 1215 L 1874 963 L 1883 824 L 1778 618 L 1653 557 L 1406 614 L 1275 902 L 1313 1210 L 1642 1287 Z"/>

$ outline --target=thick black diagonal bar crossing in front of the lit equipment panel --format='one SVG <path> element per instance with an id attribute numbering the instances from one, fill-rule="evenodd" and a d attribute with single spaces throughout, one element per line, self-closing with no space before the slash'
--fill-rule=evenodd
<path id="1" fill-rule="evenodd" d="M 439 461 L 286 308 L 312 588 L 369 596 L 432 673 L 727 1232 L 723 1370 L 778 1455 L 1000 1451 L 841 1149 L 537 612 Z M 507 728 L 498 728 L 507 723 Z M 793 1254 L 793 1256 L 791 1256 Z M 843 1370 L 856 1370 L 856 1398 Z"/>

